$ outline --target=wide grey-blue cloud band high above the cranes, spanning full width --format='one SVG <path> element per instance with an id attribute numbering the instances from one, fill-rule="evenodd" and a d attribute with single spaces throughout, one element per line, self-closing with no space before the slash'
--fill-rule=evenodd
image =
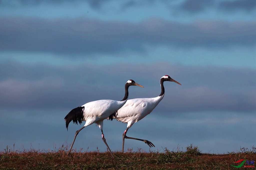
<path id="1" fill-rule="evenodd" d="M 197 21 L 191 24 L 148 19 L 140 23 L 88 18 L 0 19 L 0 50 L 61 54 L 142 52 L 144 46 L 222 48 L 256 44 L 256 22 Z"/>

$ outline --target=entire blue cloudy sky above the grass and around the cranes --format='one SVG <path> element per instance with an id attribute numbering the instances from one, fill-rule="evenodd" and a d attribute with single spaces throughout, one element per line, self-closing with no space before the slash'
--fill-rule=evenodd
<path id="1" fill-rule="evenodd" d="M 255 0 L 0 0 L 0 151 L 58 150 L 81 125 L 70 110 L 101 99 L 157 97 L 124 151 L 228 153 L 256 146 Z M 125 123 L 104 120 L 112 151 Z M 92 124 L 73 149 L 107 151 Z"/>

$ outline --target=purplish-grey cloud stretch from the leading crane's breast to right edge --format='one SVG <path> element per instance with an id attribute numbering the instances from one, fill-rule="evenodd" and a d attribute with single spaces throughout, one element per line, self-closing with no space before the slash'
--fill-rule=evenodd
<path id="1" fill-rule="evenodd" d="M 175 88 L 174 90 L 177 90 Z M 253 113 L 256 111 L 256 91 L 226 91 L 223 89 L 211 89 L 207 87 L 195 87 L 180 90 L 170 90 L 170 95 L 159 104 L 161 114 L 204 111 L 226 111 Z M 171 108 L 171 109 L 170 109 Z"/>

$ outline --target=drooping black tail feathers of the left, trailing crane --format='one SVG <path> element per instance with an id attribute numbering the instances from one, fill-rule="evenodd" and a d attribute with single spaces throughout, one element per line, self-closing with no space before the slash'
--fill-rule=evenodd
<path id="1" fill-rule="evenodd" d="M 82 123 L 82 119 L 83 119 L 83 107 L 77 107 L 72 109 L 67 116 L 64 118 L 66 121 L 66 128 L 68 130 L 68 124 L 73 121 L 73 123 L 77 124 L 77 121 L 79 122 L 79 124 Z"/>

